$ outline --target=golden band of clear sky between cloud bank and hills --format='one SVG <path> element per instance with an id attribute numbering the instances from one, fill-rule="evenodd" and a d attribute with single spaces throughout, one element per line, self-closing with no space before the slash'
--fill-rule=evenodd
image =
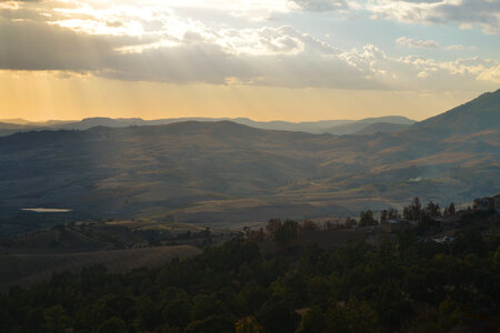
<path id="1" fill-rule="evenodd" d="M 61 72 L 0 71 L 0 119 L 77 120 L 88 117 L 244 117 L 259 121 L 434 115 L 473 94 L 288 89 L 251 85 L 129 82 Z"/>

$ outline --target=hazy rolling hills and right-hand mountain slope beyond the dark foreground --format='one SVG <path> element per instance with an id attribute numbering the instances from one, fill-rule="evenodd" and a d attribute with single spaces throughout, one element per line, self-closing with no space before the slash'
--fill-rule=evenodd
<path id="1" fill-rule="evenodd" d="M 390 133 L 130 122 L 0 138 L 0 211 L 43 206 L 239 226 L 500 192 L 500 90 Z"/>

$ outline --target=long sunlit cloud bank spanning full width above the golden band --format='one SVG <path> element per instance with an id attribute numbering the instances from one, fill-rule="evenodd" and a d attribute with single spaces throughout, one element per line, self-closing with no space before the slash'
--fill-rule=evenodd
<path id="1" fill-rule="evenodd" d="M 372 44 L 341 50 L 290 26 L 210 24 L 158 6 L 63 4 L 0 11 L 0 69 L 84 72 L 127 81 L 356 90 L 490 89 L 498 80 L 498 62 L 480 58 L 391 58 Z M 399 42 L 437 43 L 411 38 Z"/>

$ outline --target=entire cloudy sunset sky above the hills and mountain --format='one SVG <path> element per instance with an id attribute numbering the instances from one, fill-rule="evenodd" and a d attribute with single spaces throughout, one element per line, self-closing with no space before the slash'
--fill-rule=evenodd
<path id="1" fill-rule="evenodd" d="M 500 88 L 500 0 L 0 0 L 0 119 L 422 120 Z"/>

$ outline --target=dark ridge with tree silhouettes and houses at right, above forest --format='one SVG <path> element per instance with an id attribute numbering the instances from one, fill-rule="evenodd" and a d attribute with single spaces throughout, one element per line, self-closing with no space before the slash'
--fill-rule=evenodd
<path id="1" fill-rule="evenodd" d="M 362 211 L 357 219 L 347 218 L 343 221 L 340 219 L 309 219 L 296 222 L 271 219 L 264 229 L 256 231 L 244 228 L 243 233 L 254 241 L 270 238 L 277 242 L 304 239 L 314 242 L 319 239 L 311 232 L 331 231 L 333 233 L 329 232 L 328 234 L 334 236 L 338 234 L 336 231 L 344 231 L 344 238 L 348 240 L 364 239 L 372 243 L 379 243 L 383 239 L 397 236 L 404 230 L 413 230 L 422 241 L 441 243 L 452 241 L 454 233 L 461 229 L 486 225 L 483 229 L 488 230 L 488 225 L 498 226 L 499 213 L 500 194 L 477 198 L 471 205 L 464 209 L 457 209 L 453 203 L 441 209 L 432 201 L 422 204 L 419 198 L 414 198 L 408 206 L 402 209 L 402 212 L 390 208 L 382 210 L 376 216 L 371 210 L 367 210 Z M 331 243 L 329 239 L 330 236 L 321 239 L 320 243 Z M 338 242 L 344 241 L 343 239 L 338 240 Z"/>

